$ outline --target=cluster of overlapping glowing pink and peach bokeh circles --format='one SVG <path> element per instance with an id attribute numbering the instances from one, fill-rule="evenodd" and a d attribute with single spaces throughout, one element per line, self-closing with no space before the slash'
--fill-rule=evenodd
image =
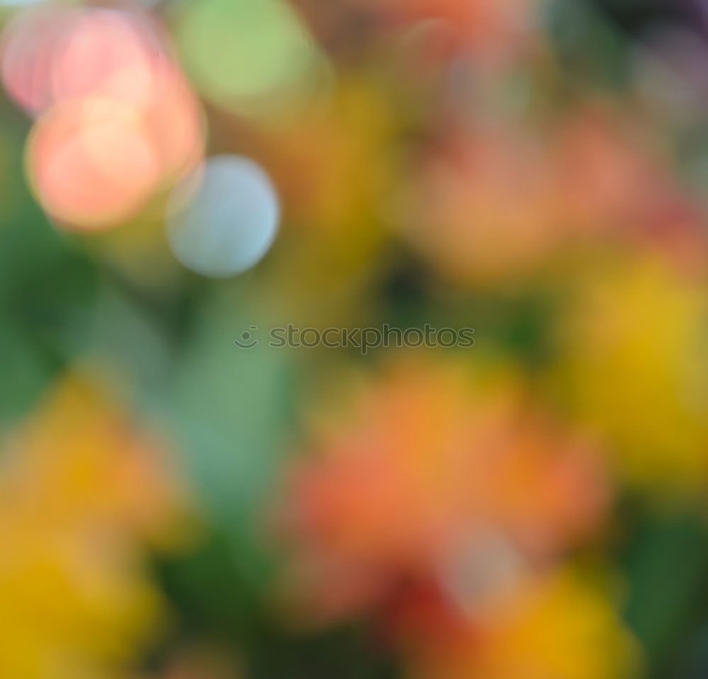
<path id="1" fill-rule="evenodd" d="M 6 87 L 40 114 L 28 172 L 65 228 L 115 227 L 198 161 L 198 103 L 163 43 L 118 9 L 38 8 L 6 29 Z"/>

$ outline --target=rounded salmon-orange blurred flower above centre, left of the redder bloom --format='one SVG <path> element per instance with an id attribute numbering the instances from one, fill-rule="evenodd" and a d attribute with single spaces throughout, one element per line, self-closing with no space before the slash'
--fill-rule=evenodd
<path id="1" fill-rule="evenodd" d="M 496 125 L 458 130 L 418 167 L 402 229 L 453 280 L 527 270 L 562 236 L 540 139 Z"/>

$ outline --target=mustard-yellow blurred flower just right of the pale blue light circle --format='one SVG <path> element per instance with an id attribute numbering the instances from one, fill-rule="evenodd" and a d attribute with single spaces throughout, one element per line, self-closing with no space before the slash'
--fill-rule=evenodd
<path id="1" fill-rule="evenodd" d="M 328 101 L 271 130 L 275 172 L 304 235 L 338 236 L 354 252 L 371 239 L 392 181 L 394 115 L 381 86 L 343 74 Z"/>

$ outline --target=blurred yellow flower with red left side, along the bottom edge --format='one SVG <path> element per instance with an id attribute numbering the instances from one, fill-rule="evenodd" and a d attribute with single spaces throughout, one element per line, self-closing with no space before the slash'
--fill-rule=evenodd
<path id="1" fill-rule="evenodd" d="M 448 609 L 409 620 L 404 648 L 411 679 L 626 679 L 639 668 L 610 601 L 570 569 L 525 583 L 491 619 Z"/>

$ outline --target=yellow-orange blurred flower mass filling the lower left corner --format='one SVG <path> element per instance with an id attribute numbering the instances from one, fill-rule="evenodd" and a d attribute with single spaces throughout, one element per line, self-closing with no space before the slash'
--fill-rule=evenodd
<path id="1" fill-rule="evenodd" d="M 159 445 L 79 377 L 62 380 L 0 460 L 0 676 L 113 677 L 158 620 L 140 566 L 173 534 Z"/>

